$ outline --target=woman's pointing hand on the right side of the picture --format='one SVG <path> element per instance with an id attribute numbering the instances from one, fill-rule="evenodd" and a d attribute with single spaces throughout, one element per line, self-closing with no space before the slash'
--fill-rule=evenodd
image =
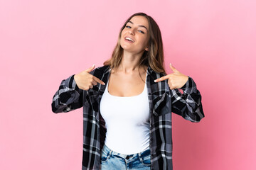
<path id="1" fill-rule="evenodd" d="M 169 84 L 169 87 L 171 90 L 179 89 L 184 84 L 186 84 L 186 81 L 188 81 L 188 76 L 182 74 L 181 72 L 178 72 L 178 70 L 176 68 L 174 68 L 174 66 L 172 66 L 171 63 L 170 63 L 170 67 L 171 67 L 172 71 L 174 71 L 174 73 L 168 74 L 159 79 L 155 79 L 155 82 L 159 82 L 159 81 L 168 79 L 168 84 Z"/>

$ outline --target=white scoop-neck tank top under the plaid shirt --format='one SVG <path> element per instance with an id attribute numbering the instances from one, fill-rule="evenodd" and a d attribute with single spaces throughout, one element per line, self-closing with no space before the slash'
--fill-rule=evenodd
<path id="1" fill-rule="evenodd" d="M 120 154 L 135 154 L 149 148 L 149 98 L 142 94 L 130 97 L 112 96 L 105 92 L 100 101 L 100 113 L 107 128 L 105 145 Z"/>

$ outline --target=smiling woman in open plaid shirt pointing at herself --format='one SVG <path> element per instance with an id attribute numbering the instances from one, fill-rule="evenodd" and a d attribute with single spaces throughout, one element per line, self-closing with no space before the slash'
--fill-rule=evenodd
<path id="1" fill-rule="evenodd" d="M 172 169 L 171 112 L 191 122 L 205 115 L 196 83 L 170 67 L 159 26 L 134 13 L 104 66 L 61 82 L 52 111 L 83 106 L 82 169 Z"/>

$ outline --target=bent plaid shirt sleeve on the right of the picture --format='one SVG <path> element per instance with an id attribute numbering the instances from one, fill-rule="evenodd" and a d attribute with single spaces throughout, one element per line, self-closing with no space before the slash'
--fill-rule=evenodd
<path id="1" fill-rule="evenodd" d="M 183 94 L 178 89 L 171 91 L 171 111 L 181 115 L 191 122 L 199 122 L 205 117 L 202 106 L 202 96 L 196 88 L 196 83 L 188 76 L 188 81 L 181 88 Z"/>

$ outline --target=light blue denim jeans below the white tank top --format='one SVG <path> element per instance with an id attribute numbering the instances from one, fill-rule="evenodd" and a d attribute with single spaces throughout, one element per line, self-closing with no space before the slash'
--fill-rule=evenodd
<path id="1" fill-rule="evenodd" d="M 100 154 L 100 169 L 102 170 L 150 170 L 151 155 L 149 147 L 144 152 L 137 154 L 119 154 L 112 151 L 106 145 Z"/>

